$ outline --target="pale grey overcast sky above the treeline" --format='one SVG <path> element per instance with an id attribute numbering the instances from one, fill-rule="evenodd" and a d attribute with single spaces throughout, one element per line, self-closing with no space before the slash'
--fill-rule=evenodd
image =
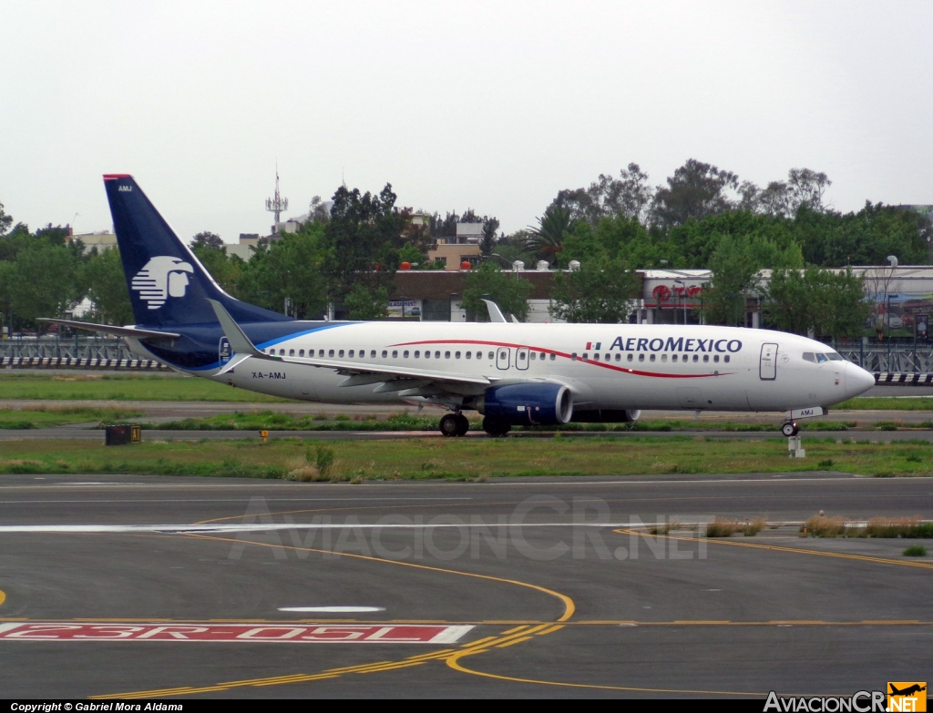
<path id="1" fill-rule="evenodd" d="M 0 0 L 0 33 L 0 202 L 33 229 L 110 228 L 101 174 L 130 172 L 234 242 L 276 160 L 289 214 L 342 175 L 509 232 L 632 161 L 933 203 L 930 2 Z"/>

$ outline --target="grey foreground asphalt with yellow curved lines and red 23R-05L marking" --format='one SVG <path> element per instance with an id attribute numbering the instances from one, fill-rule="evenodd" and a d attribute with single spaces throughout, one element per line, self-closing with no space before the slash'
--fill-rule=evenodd
<path id="1" fill-rule="evenodd" d="M 928 517 L 933 480 L 7 475 L 2 690 L 763 701 L 926 680 L 933 562 L 801 538 L 821 509 Z M 776 527 L 687 528 L 716 516 Z M 633 529 L 658 520 L 681 525 Z M 374 610 L 284 610 L 335 606 Z"/>

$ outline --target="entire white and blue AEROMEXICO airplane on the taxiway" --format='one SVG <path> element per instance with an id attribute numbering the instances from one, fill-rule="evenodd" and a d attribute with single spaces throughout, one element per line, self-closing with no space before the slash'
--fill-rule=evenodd
<path id="1" fill-rule="evenodd" d="M 761 329 L 648 324 L 304 322 L 227 295 L 132 176 L 104 176 L 136 324 L 50 320 L 122 336 L 184 374 L 292 399 L 439 406 L 483 430 L 625 422 L 641 409 L 784 411 L 795 418 L 867 391 L 874 377 L 824 344 Z"/>

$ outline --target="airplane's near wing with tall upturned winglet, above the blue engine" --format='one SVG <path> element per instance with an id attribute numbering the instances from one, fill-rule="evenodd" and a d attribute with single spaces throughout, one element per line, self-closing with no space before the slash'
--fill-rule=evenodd
<path id="1" fill-rule="evenodd" d="M 259 350 L 244 333 L 230 313 L 223 305 L 213 299 L 208 299 L 211 307 L 220 322 L 224 336 L 230 342 L 233 358 L 224 364 L 219 372 L 226 374 L 236 364 L 242 363 L 246 358 L 262 359 L 276 363 L 295 363 L 306 366 L 318 366 L 326 369 L 335 369 L 339 374 L 347 376 L 340 386 L 376 385 L 373 390 L 377 393 L 398 391 L 399 396 L 423 396 L 431 391 L 447 391 L 461 395 L 479 395 L 485 388 L 493 383 L 489 377 L 471 376 L 459 372 L 438 371 L 435 369 L 419 369 L 409 366 L 388 366 L 379 363 L 365 363 L 357 361 L 338 361 L 334 359 L 313 359 L 304 357 L 285 357 L 266 354 Z"/>

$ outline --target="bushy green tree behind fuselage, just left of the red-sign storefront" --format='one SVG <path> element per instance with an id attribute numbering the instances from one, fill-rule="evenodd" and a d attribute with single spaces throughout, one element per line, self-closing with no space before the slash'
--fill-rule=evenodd
<path id="1" fill-rule="evenodd" d="M 554 276 L 551 316 L 564 322 L 626 322 L 641 278 L 621 260 L 592 259 Z"/>

